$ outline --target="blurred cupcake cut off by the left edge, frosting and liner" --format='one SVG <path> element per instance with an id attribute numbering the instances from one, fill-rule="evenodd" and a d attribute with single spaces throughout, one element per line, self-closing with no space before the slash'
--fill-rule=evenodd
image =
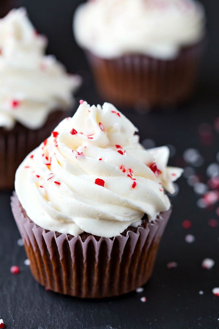
<path id="1" fill-rule="evenodd" d="M 14 187 L 18 165 L 68 116 L 80 84 L 46 45 L 25 9 L 0 19 L 0 189 Z"/>

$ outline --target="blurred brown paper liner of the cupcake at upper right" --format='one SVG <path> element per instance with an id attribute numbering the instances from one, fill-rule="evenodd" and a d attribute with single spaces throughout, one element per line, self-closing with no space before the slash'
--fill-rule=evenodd
<path id="1" fill-rule="evenodd" d="M 173 106 L 187 100 L 196 86 L 205 42 L 183 48 L 174 60 L 127 54 L 102 59 L 87 52 L 104 101 L 147 108 Z"/>

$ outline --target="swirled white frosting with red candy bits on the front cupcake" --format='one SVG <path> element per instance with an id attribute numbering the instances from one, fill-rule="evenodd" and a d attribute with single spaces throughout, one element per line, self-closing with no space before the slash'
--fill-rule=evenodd
<path id="1" fill-rule="evenodd" d="M 182 169 L 166 166 L 167 147 L 145 150 L 137 131 L 112 104 L 80 105 L 16 172 L 27 215 L 48 230 L 109 238 L 168 210 L 163 187 L 173 193 Z"/>

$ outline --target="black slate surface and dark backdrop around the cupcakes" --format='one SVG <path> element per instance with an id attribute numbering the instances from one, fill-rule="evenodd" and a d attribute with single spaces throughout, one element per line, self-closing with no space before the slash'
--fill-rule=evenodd
<path id="1" fill-rule="evenodd" d="M 12 4 L 5 1 L 2 11 L 8 10 L 8 7 L 25 6 L 37 30 L 49 38 L 48 53 L 55 54 L 69 72 L 83 77 L 77 101 L 82 98 L 90 104 L 102 104 L 85 57 L 72 34 L 72 16 L 80 2 L 20 0 Z M 172 144 L 176 147 L 177 153 L 170 159 L 172 165 L 181 163 L 185 149 L 199 149 L 205 162 L 195 170 L 206 182 L 206 168 L 216 161 L 219 135 L 214 131 L 213 144 L 203 146 L 198 128 L 204 122 L 213 125 L 219 110 L 219 1 L 203 2 L 208 15 L 208 49 L 193 100 L 167 113 L 143 115 L 120 110 L 139 128 L 141 140 L 151 138 L 157 146 Z M 219 227 L 208 226 L 208 220 L 217 219 L 217 216 L 215 209 L 208 211 L 197 207 L 196 201 L 200 196 L 187 185 L 185 178 L 181 178 L 178 184 L 179 194 L 172 197 L 174 212 L 161 242 L 154 274 L 145 290 L 108 300 L 80 300 L 45 291 L 39 286 L 32 278 L 29 266 L 23 264 L 26 259 L 23 247 L 17 245 L 19 233 L 11 214 L 11 191 L 0 192 L 0 318 L 3 318 L 6 328 L 219 328 L 219 297 L 211 292 L 212 288 L 219 286 Z M 192 222 L 189 230 L 182 227 L 185 219 Z M 195 236 L 195 242 L 185 242 L 188 233 Z M 211 270 L 201 267 L 206 257 L 215 260 Z M 168 269 L 166 264 L 170 261 L 177 262 L 178 267 Z M 21 273 L 12 275 L 11 265 L 20 266 Z M 203 295 L 199 294 L 200 290 L 204 291 Z M 142 303 L 142 296 L 146 296 L 148 301 Z"/>

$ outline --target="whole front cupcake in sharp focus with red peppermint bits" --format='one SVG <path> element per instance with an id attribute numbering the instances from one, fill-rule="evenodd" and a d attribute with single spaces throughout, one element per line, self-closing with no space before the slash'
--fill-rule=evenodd
<path id="1" fill-rule="evenodd" d="M 20 164 L 12 212 L 30 268 L 47 289 L 116 296 L 150 278 L 171 213 L 164 190 L 182 169 L 167 147 L 145 150 L 112 104 L 81 101 Z"/>

